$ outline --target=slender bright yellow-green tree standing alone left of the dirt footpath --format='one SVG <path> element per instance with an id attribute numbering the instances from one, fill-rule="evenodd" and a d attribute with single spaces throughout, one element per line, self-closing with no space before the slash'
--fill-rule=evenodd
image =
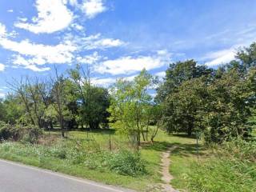
<path id="1" fill-rule="evenodd" d="M 154 78 L 142 70 L 134 81 L 118 79 L 111 91 L 110 125 L 126 134 L 130 142 L 137 143 L 137 148 L 140 146 L 141 135 L 146 138 L 144 131 L 148 126 L 143 120 L 152 102 L 149 90 L 153 84 Z"/>

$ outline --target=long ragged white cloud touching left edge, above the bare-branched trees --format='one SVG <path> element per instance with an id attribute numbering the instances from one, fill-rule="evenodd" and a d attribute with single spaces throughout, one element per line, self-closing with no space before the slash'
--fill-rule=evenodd
<path id="1" fill-rule="evenodd" d="M 60 42 L 55 46 L 49 46 L 35 44 L 28 39 L 15 42 L 8 37 L 10 35 L 7 34 L 6 27 L 0 23 L 0 46 L 17 53 L 14 54 L 12 61 L 14 65 L 34 71 L 50 70 L 49 67 L 42 67 L 47 63 L 70 63 L 74 59 L 74 52 L 77 50 L 76 45 L 69 40 Z"/>

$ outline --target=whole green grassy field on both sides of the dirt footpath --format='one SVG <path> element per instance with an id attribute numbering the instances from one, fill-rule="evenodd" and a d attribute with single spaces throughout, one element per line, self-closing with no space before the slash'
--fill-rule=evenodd
<path id="1" fill-rule="evenodd" d="M 170 173 L 174 179 L 170 184 L 175 189 L 191 192 L 256 191 L 255 144 L 242 142 L 222 150 L 220 146 L 206 148 L 199 142 L 197 150 L 195 138 L 188 138 L 185 134 L 168 135 L 160 130 L 153 145 L 142 142 L 140 153 L 146 173 L 129 176 L 110 170 L 101 162 L 104 158 L 113 158 L 110 148 L 112 151 L 133 150 L 127 139 L 114 131 L 70 131 L 65 139 L 61 139 L 57 131 L 44 134 L 38 145 L 2 142 L 0 158 L 138 191 L 161 191 L 161 154 L 174 147 L 170 155 Z M 81 156 L 80 161 L 78 151 L 82 150 L 86 151 L 86 156 Z"/>

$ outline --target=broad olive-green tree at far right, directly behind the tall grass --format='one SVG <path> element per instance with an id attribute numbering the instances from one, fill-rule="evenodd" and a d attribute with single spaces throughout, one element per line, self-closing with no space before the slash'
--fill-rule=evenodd
<path id="1" fill-rule="evenodd" d="M 208 86 L 209 99 L 202 119 L 206 142 L 223 142 L 248 134 L 247 122 L 255 99 L 251 91 L 254 81 L 241 78 L 234 68 Z"/>

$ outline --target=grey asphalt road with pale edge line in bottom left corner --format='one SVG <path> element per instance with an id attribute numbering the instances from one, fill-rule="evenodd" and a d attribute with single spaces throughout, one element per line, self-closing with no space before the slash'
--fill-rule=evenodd
<path id="1" fill-rule="evenodd" d="M 132 192 L 0 160 L 0 192 Z"/>

